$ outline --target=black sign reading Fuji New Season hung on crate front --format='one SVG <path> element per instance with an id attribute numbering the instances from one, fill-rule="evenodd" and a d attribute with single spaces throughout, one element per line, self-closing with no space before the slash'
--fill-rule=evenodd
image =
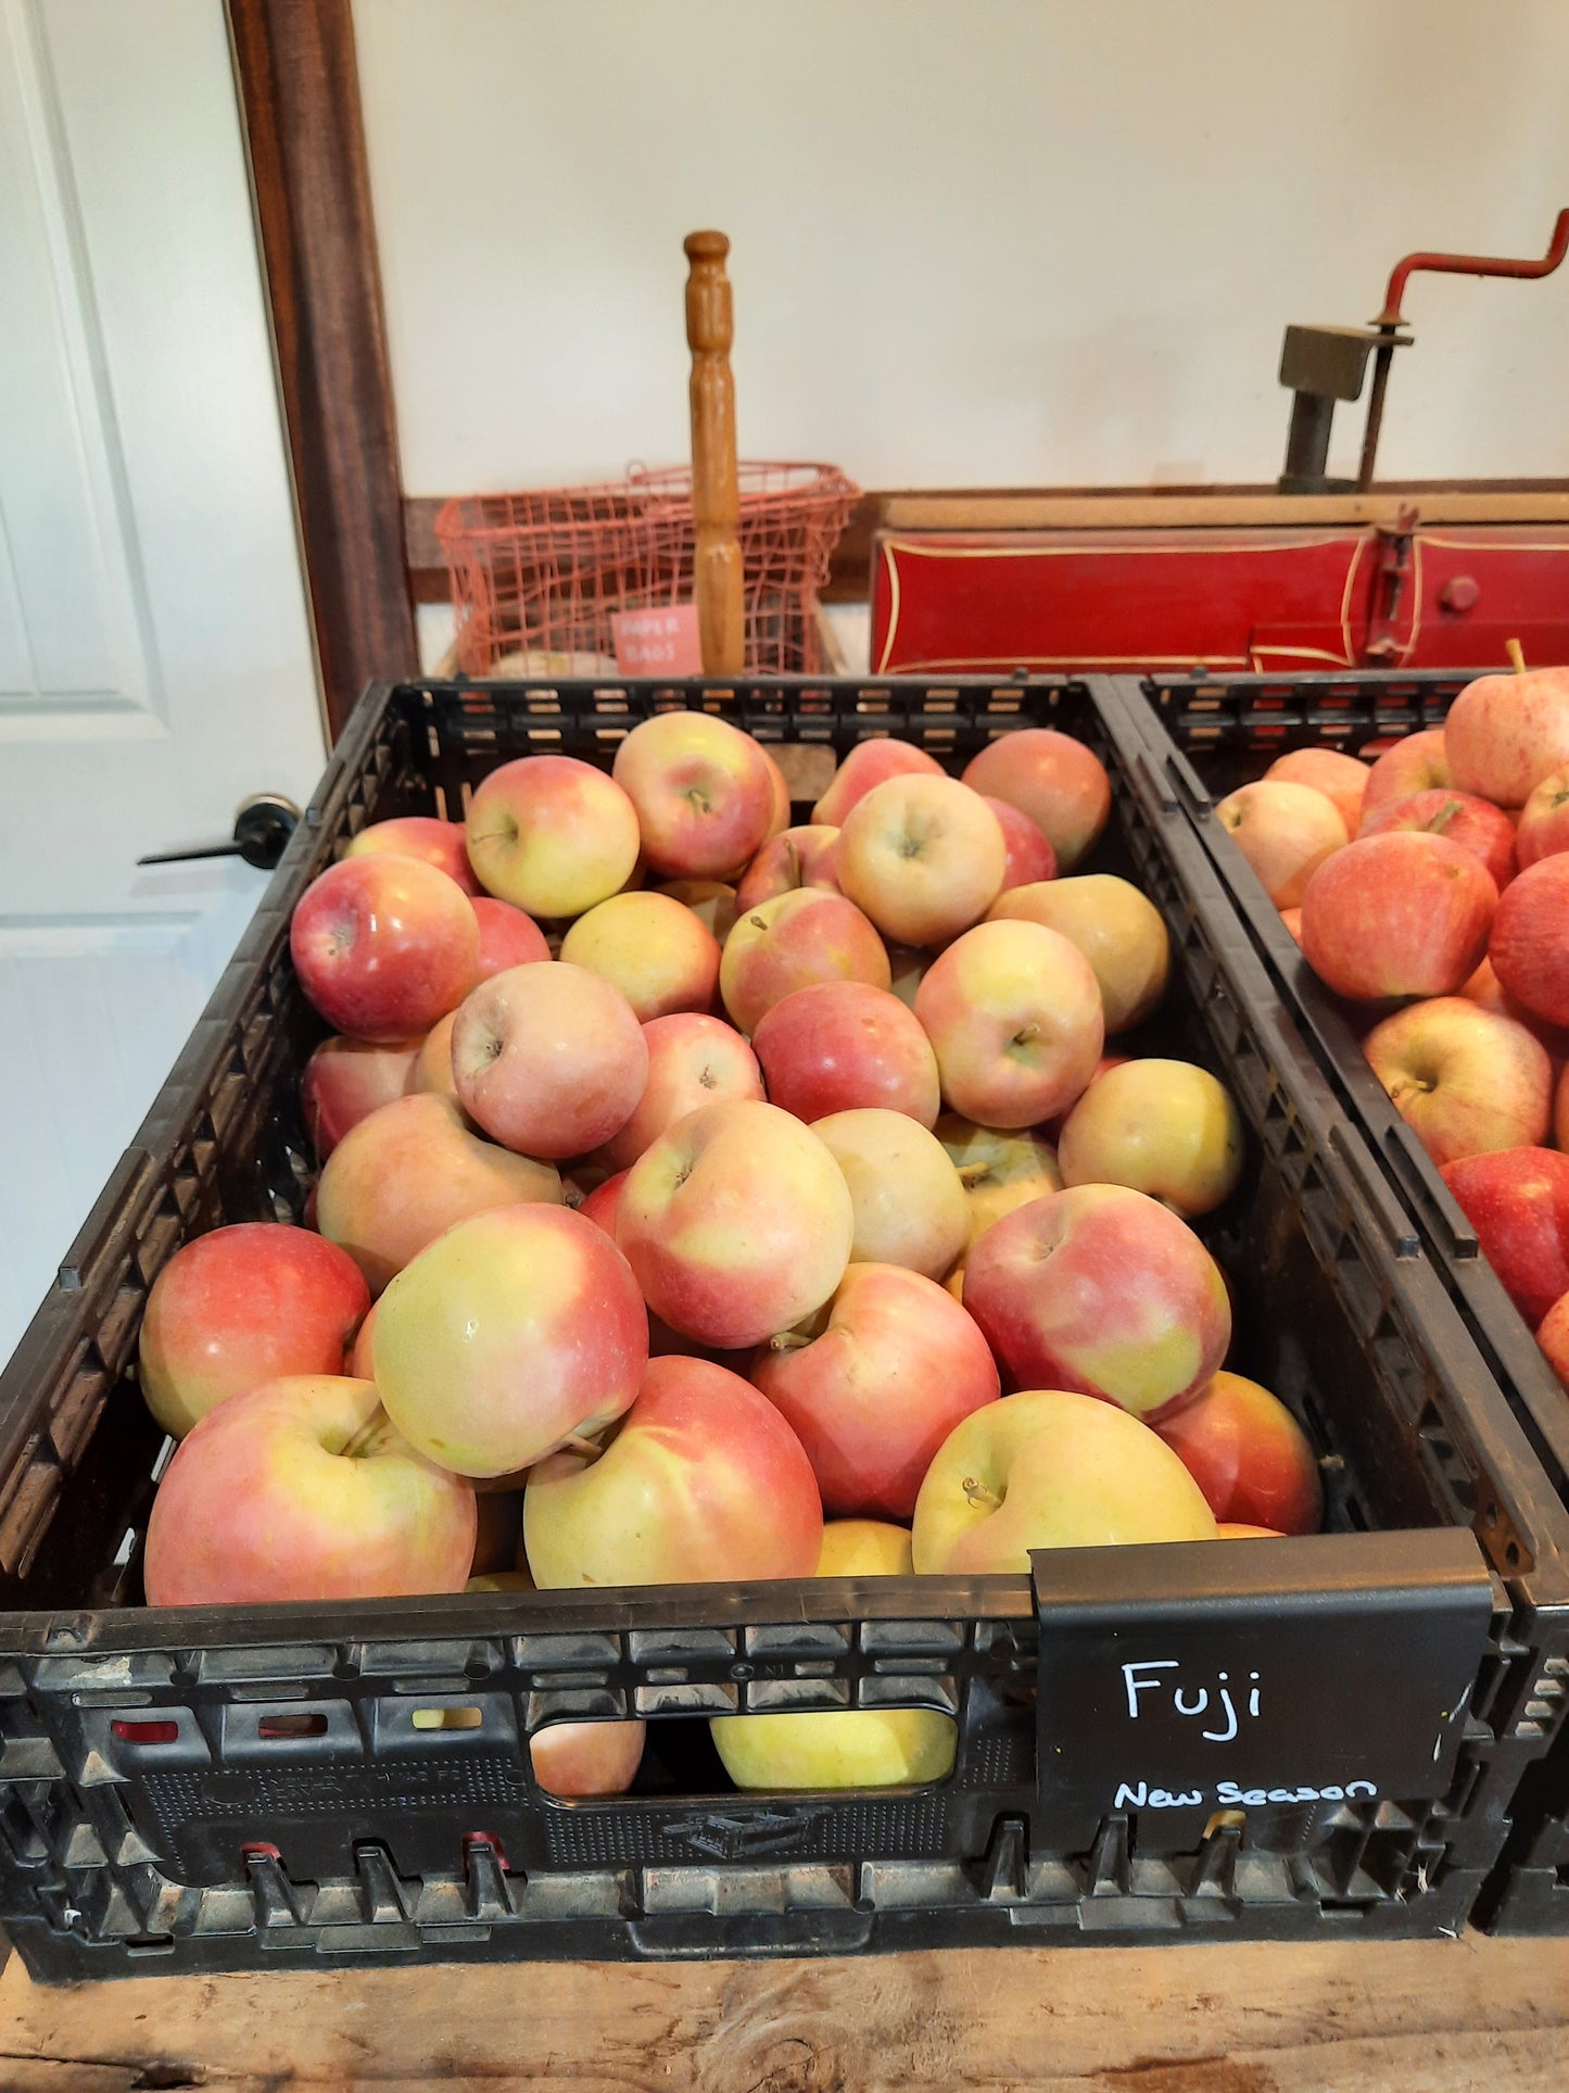
<path id="1" fill-rule="evenodd" d="M 1146 1850 L 1218 1810 L 1439 1796 L 1494 1586 L 1469 1532 L 1318 1534 L 1031 1557 L 1036 1844 L 1113 1813 Z"/>

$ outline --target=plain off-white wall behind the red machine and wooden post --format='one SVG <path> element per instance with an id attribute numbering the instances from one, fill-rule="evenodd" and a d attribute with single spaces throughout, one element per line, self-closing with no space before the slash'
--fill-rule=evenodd
<path id="1" fill-rule="evenodd" d="M 741 448 L 864 486 L 1270 479 L 1287 320 L 1540 253 L 1565 0 L 358 0 L 414 494 L 686 450 L 734 241 Z M 1569 471 L 1569 270 L 1420 278 L 1389 475 Z M 1341 410 L 1337 467 L 1360 417 Z"/>

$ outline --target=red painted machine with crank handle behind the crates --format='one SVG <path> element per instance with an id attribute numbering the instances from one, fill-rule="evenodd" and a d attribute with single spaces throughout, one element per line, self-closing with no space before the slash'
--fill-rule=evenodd
<path id="1" fill-rule="evenodd" d="M 1412 274 L 1548 276 L 1546 255 L 1412 253 L 1370 327 L 1289 327 L 1276 490 L 900 496 L 872 550 L 874 674 L 1209 666 L 1504 666 L 1569 659 L 1569 486 L 1377 488 Z M 1326 471 L 1337 402 L 1372 391 L 1358 477 Z M 960 525 L 960 527 L 943 527 Z"/>

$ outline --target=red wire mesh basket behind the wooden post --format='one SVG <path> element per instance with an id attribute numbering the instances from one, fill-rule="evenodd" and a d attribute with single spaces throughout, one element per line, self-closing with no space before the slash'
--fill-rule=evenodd
<path id="1" fill-rule="evenodd" d="M 860 488 L 833 465 L 741 463 L 747 670 L 816 674 L 818 590 Z M 692 597 L 692 475 L 646 471 L 584 488 L 460 494 L 435 536 L 452 573 L 464 676 L 615 672 L 615 611 Z M 523 659 L 515 659 L 523 657 Z"/>

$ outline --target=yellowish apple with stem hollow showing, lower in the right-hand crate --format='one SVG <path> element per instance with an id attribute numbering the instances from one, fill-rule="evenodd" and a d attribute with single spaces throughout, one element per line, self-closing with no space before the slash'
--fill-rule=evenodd
<path id="1" fill-rule="evenodd" d="M 1548 1136 L 1552 1061 L 1513 1017 L 1433 996 L 1385 1017 L 1362 1051 L 1435 1164 Z"/>

